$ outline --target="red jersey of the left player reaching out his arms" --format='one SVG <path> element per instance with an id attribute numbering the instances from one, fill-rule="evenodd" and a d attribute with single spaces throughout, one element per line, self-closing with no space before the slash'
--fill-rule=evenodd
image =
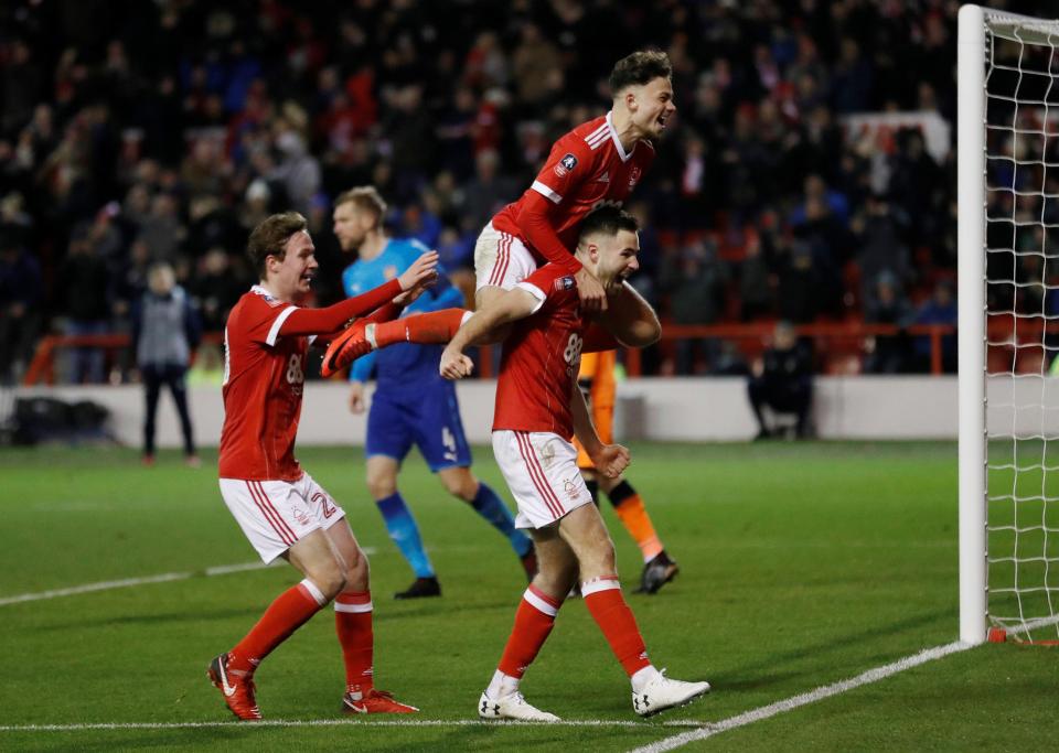
<path id="1" fill-rule="evenodd" d="M 280 337 L 298 310 L 254 286 L 224 327 L 222 478 L 297 481 L 295 458 L 310 337 Z"/>

